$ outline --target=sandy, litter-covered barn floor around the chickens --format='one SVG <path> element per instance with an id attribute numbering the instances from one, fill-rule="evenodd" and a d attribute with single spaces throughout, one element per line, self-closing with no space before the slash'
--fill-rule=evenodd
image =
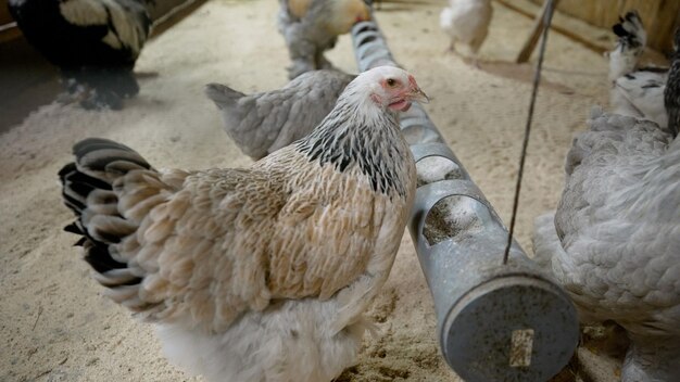
<path id="1" fill-rule="evenodd" d="M 440 3 L 385 3 L 377 18 L 394 58 L 432 98 L 431 119 L 509 221 L 514 177 L 530 94 L 531 66 L 511 64 L 532 21 L 494 3 L 481 68 L 445 53 Z M 247 166 L 202 93 L 211 81 L 242 91 L 287 82 L 288 55 L 276 30 L 278 2 L 212 0 L 144 48 L 141 93 L 122 112 L 51 103 L 0 136 L 0 381 L 199 381 L 168 365 L 150 326 L 101 297 L 88 266 L 62 231 L 72 219 L 56 171 L 71 147 L 105 137 L 156 167 Z M 607 31 L 602 30 L 606 36 Z M 329 59 L 356 72 L 350 37 Z M 518 240 L 530 252 L 533 218 L 554 208 L 563 161 L 592 105 L 606 105 L 607 62 L 551 34 L 527 158 Z M 391 277 L 368 313 L 379 323 L 343 381 L 458 381 L 439 355 L 429 291 L 408 234 Z M 615 364 L 595 362 L 601 381 Z M 570 371 L 561 381 L 574 380 Z M 564 378 L 563 378 L 564 377 Z"/>

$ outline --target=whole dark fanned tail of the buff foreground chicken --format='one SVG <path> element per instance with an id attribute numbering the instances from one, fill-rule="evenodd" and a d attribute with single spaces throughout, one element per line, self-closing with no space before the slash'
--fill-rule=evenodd
<path id="1" fill-rule="evenodd" d="M 85 260 L 98 272 L 97 280 L 110 288 L 112 298 L 121 303 L 129 300 L 141 273 L 128 266 L 116 245 L 125 245 L 125 239 L 134 237 L 140 216 L 158 204 L 150 202 L 161 189 L 160 181 L 135 182 L 134 178 L 159 174 L 137 152 L 106 139 L 83 140 L 73 153 L 75 162 L 59 171 L 64 203 L 76 215 L 64 230 L 81 237 L 76 245 L 84 247 Z M 122 181 L 130 176 L 131 181 Z M 118 198 L 123 188 L 125 193 Z"/>

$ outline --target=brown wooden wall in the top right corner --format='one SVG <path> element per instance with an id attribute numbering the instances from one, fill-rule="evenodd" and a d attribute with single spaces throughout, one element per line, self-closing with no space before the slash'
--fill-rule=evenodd
<path id="1" fill-rule="evenodd" d="M 647 46 L 664 53 L 672 49 L 672 34 L 680 27 L 680 0 L 561 0 L 557 9 L 604 28 L 616 24 L 619 15 L 638 10 L 647 31 Z"/>

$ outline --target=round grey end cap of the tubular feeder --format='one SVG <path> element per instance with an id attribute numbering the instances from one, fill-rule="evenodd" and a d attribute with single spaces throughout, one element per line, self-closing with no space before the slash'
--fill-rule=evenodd
<path id="1" fill-rule="evenodd" d="M 571 358 L 578 317 L 550 281 L 504 276 L 474 288 L 446 315 L 444 358 L 467 382 L 543 382 Z"/>

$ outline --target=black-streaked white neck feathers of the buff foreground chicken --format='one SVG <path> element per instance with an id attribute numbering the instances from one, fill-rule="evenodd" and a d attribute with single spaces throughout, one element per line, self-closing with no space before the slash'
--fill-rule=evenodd
<path id="1" fill-rule="evenodd" d="M 355 166 L 366 175 L 374 191 L 406 195 L 398 174 L 404 171 L 403 160 L 411 156 L 400 132 L 394 112 L 374 103 L 357 86 L 351 84 L 332 112 L 306 138 L 298 141 L 297 150 L 347 171 Z"/>

